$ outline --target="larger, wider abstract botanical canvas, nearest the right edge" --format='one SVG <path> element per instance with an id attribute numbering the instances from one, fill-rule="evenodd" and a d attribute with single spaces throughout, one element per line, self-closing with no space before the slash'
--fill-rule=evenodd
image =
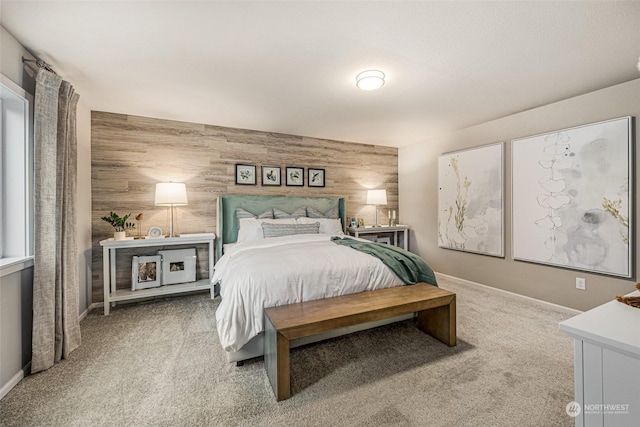
<path id="1" fill-rule="evenodd" d="M 512 141 L 513 258 L 631 277 L 633 118 Z"/>

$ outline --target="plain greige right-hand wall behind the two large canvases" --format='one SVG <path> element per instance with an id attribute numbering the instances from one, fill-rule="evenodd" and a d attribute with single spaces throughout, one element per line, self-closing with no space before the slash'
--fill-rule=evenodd
<path id="1" fill-rule="evenodd" d="M 610 301 L 615 295 L 633 291 L 635 282 L 632 280 L 511 259 L 511 140 L 622 116 L 640 117 L 640 79 L 401 148 L 398 152 L 400 212 L 402 222 L 412 227 L 411 250 L 424 257 L 440 273 L 579 310 L 590 309 Z M 637 126 L 635 137 L 637 141 Z M 438 248 L 438 156 L 499 141 L 505 142 L 506 257 L 500 259 Z M 640 164 L 638 150 L 635 157 L 636 164 Z M 637 176 L 634 183 L 636 192 L 640 188 Z M 638 212 L 637 203 L 635 212 Z M 635 242 L 639 238 L 640 233 L 636 229 Z M 636 251 L 636 279 L 639 260 Z M 586 291 L 575 288 L 577 276 L 586 278 Z"/>

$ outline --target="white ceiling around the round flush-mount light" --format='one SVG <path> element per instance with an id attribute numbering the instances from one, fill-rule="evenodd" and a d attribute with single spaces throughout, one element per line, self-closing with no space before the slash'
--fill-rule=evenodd
<path id="1" fill-rule="evenodd" d="M 2 0 L 0 23 L 93 110 L 377 145 L 640 77 L 640 1 Z"/>

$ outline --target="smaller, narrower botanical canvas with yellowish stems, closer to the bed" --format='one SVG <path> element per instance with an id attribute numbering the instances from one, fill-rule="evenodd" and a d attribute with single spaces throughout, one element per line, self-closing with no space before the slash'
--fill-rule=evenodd
<path id="1" fill-rule="evenodd" d="M 438 246 L 504 256 L 503 143 L 438 158 Z"/>

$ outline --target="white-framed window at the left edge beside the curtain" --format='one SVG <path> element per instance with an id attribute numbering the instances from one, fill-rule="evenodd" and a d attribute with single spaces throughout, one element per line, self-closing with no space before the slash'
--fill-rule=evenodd
<path id="1" fill-rule="evenodd" d="M 32 97 L 0 74 L 0 272 L 33 254 Z"/>

